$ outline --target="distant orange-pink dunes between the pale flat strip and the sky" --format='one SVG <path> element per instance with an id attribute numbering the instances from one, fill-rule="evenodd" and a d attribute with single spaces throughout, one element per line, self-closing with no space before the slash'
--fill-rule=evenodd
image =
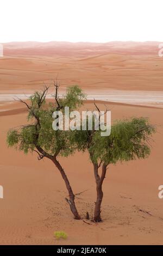
<path id="1" fill-rule="evenodd" d="M 29 93 L 58 76 L 65 89 L 162 91 L 159 42 L 10 42 L 0 58 L 0 93 Z"/>

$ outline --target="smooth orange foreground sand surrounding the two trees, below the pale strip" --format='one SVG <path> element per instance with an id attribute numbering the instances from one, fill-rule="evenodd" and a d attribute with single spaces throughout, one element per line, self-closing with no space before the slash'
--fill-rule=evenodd
<path id="1" fill-rule="evenodd" d="M 99 107 L 105 108 L 103 103 Z M 12 104 L 10 105 L 12 111 Z M 110 166 L 104 182 L 103 223 L 87 225 L 74 221 L 64 198 L 65 185 L 53 164 L 37 161 L 36 155 L 23 155 L 5 144 L 7 130 L 26 123 L 20 103 L 14 115 L 1 116 L 1 244 L 161 244 L 162 202 L 158 186 L 162 180 L 162 109 L 109 103 L 112 120 L 130 116 L 149 117 L 158 125 L 152 154 L 148 160 Z M 85 108 L 92 108 L 87 103 Z M 16 115 L 15 115 L 16 114 Z M 82 216 L 93 211 L 95 181 L 87 154 L 61 159 L 74 192 L 87 190 L 77 199 Z M 80 180 L 80 182 L 79 182 Z M 140 210 L 149 211 L 148 215 Z M 55 230 L 68 234 L 56 241 Z"/>

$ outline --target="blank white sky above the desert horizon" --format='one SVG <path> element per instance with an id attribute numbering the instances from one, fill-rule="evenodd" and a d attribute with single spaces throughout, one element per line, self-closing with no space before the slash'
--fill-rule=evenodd
<path id="1" fill-rule="evenodd" d="M 0 0 L 0 42 L 163 41 L 163 0 Z"/>

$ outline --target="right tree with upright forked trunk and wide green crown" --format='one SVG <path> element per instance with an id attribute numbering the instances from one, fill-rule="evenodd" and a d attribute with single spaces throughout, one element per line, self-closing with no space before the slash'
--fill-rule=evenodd
<path id="1" fill-rule="evenodd" d="M 95 222 L 102 221 L 102 186 L 109 164 L 148 157 L 153 132 L 155 132 L 154 126 L 148 123 L 147 118 L 141 117 L 117 121 L 111 127 L 110 136 L 106 137 L 101 136 L 100 129 L 72 133 L 72 142 L 76 143 L 79 151 L 89 151 L 93 164 L 97 194 L 93 217 Z M 101 175 L 99 168 L 102 168 Z"/>

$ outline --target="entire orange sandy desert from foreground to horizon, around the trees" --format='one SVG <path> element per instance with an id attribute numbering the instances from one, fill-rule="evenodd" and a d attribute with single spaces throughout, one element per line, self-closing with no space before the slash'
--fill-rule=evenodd
<path id="1" fill-rule="evenodd" d="M 163 57 L 159 42 L 11 42 L 0 58 L 1 245 L 161 245 L 163 199 Z M 27 109 L 15 99 L 27 99 L 43 84 L 61 94 L 72 85 L 87 94 L 82 109 L 111 110 L 111 122 L 148 117 L 156 126 L 151 155 L 146 160 L 110 165 L 104 180 L 103 222 L 87 221 L 93 214 L 95 180 L 87 153 L 60 162 L 71 181 L 82 220 L 73 220 L 65 201 L 67 192 L 57 168 L 37 155 L 8 148 L 7 132 L 26 124 Z M 87 223 L 85 223 L 84 221 Z M 89 224 L 88 224 L 89 223 Z M 67 233 L 56 240 L 54 231 Z"/>

